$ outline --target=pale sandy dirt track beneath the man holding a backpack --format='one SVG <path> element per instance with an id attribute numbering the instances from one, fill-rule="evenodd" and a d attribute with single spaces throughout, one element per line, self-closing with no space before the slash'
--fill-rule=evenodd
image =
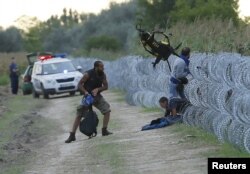
<path id="1" fill-rule="evenodd" d="M 79 131 L 70 144 L 68 137 L 75 115 L 78 97 L 54 98 L 40 115 L 58 122 L 56 135 L 46 146 L 39 148 L 25 173 L 27 174 L 111 174 L 207 173 L 207 158 L 200 155 L 212 147 L 195 146 L 186 137 L 176 134 L 173 126 L 141 132 L 141 126 L 159 117 L 159 113 L 145 113 L 140 107 L 118 100 L 116 93 L 104 93 L 111 104 L 110 130 L 113 135 L 88 140 Z M 99 113 L 101 130 L 102 116 Z"/>

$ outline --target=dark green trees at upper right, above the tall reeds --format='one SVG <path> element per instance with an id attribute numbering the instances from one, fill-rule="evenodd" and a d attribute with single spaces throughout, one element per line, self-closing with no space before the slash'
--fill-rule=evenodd
<path id="1" fill-rule="evenodd" d="M 238 0 L 138 0 L 144 26 L 167 28 L 177 21 L 197 18 L 232 19 L 238 24 Z"/>

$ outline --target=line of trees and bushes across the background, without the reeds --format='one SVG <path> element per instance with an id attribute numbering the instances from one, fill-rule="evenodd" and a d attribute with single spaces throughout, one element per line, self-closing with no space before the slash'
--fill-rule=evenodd
<path id="1" fill-rule="evenodd" d="M 131 0 L 111 3 L 98 15 L 65 8 L 62 15 L 39 21 L 27 31 L 0 28 L 0 52 L 131 52 L 138 40 L 135 25 L 139 22 L 148 30 L 166 30 L 178 22 L 220 18 L 238 27 L 244 22 L 237 12 L 238 0 Z"/>

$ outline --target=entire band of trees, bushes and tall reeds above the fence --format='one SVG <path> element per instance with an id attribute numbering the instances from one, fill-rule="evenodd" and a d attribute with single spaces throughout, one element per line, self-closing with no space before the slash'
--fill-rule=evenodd
<path id="1" fill-rule="evenodd" d="M 22 35 L 19 30 L 0 29 L 0 52 L 25 49 L 77 56 L 102 56 L 103 52 L 113 59 L 119 51 L 151 56 L 139 44 L 135 24 L 141 22 L 148 31 L 174 33 L 173 46 L 183 42 L 195 51 L 249 54 L 249 19 L 239 20 L 237 10 L 238 0 L 131 0 L 111 3 L 98 15 L 63 9 L 61 16 L 45 22 L 29 18 L 35 26 Z"/>

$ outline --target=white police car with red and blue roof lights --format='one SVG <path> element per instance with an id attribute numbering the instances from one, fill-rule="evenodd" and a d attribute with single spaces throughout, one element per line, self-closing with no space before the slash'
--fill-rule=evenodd
<path id="1" fill-rule="evenodd" d="M 33 66 L 31 82 L 33 97 L 43 95 L 45 99 L 49 95 L 69 93 L 75 95 L 78 91 L 78 82 L 82 78 L 79 72 L 81 67 L 75 68 L 71 60 L 63 56 L 40 56 Z"/>

